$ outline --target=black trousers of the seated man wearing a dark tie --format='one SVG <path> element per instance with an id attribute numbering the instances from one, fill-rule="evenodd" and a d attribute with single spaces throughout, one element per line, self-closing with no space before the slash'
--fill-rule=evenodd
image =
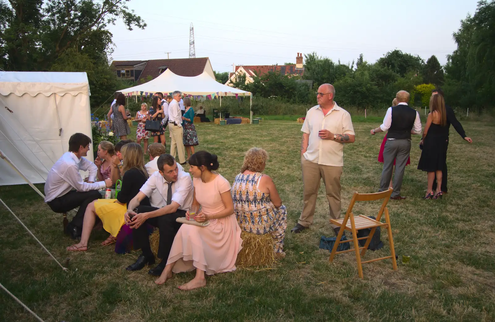
<path id="1" fill-rule="evenodd" d="M 138 206 L 137 213 L 150 212 L 159 208 L 151 206 Z M 158 227 L 160 232 L 160 240 L 158 241 L 158 258 L 161 258 L 165 262 L 168 259 L 168 254 L 170 253 L 170 248 L 172 248 L 172 243 L 174 242 L 175 235 L 181 228 L 181 223 L 175 221 L 179 217 L 185 217 L 186 210 L 178 209 L 177 212 L 169 213 L 163 216 L 149 218 L 146 223 Z M 133 229 L 132 237 L 134 240 L 134 248 L 141 248 L 143 255 L 146 257 L 153 256 L 151 247 L 149 246 L 148 230 L 146 225 L 141 225 L 137 229 Z"/>

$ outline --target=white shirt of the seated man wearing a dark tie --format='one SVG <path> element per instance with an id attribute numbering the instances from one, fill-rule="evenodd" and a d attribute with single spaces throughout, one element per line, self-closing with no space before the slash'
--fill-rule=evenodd
<path id="1" fill-rule="evenodd" d="M 167 205 L 168 183 L 165 181 L 160 172 L 154 172 L 141 187 L 141 192 L 148 198 L 152 196 L 154 190 L 157 190 L 161 200 L 153 201 L 153 206 L 161 208 Z M 172 183 L 172 201 L 179 204 L 179 209 L 189 210 L 194 198 L 193 180 L 189 173 L 179 170 L 177 181 Z"/>

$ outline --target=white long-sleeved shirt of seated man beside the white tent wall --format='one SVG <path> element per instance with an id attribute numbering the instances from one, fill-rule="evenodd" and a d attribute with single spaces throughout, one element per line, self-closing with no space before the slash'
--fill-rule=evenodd
<path id="1" fill-rule="evenodd" d="M 66 152 L 53 164 L 45 182 L 45 202 L 52 201 L 76 189 L 79 192 L 105 188 L 105 182 L 87 183 L 79 170 L 90 171 L 88 181 L 96 181 L 98 167 L 86 158 L 78 159 L 73 152 Z"/>

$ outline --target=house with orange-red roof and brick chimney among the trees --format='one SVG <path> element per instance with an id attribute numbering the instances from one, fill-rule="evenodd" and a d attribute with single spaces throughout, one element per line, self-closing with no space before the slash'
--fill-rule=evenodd
<path id="1" fill-rule="evenodd" d="M 232 86 L 237 75 L 246 75 L 246 83 L 253 82 L 254 76 L 262 76 L 268 72 L 278 72 L 282 75 L 300 75 L 304 74 L 304 65 L 302 53 L 297 53 L 296 64 L 294 65 L 234 65 L 234 71 L 229 74 L 229 80 L 225 85 Z"/>

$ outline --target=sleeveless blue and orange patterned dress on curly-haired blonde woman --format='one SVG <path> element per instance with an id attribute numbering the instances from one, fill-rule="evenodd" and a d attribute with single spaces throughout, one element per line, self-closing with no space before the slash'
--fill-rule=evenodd
<path id="1" fill-rule="evenodd" d="M 263 174 L 239 173 L 232 185 L 234 213 L 241 229 L 247 233 L 271 234 L 274 240 L 273 250 L 282 253 L 285 230 L 287 228 L 287 209 L 284 205 L 275 207 L 270 196 L 259 191 L 259 180 Z"/>

